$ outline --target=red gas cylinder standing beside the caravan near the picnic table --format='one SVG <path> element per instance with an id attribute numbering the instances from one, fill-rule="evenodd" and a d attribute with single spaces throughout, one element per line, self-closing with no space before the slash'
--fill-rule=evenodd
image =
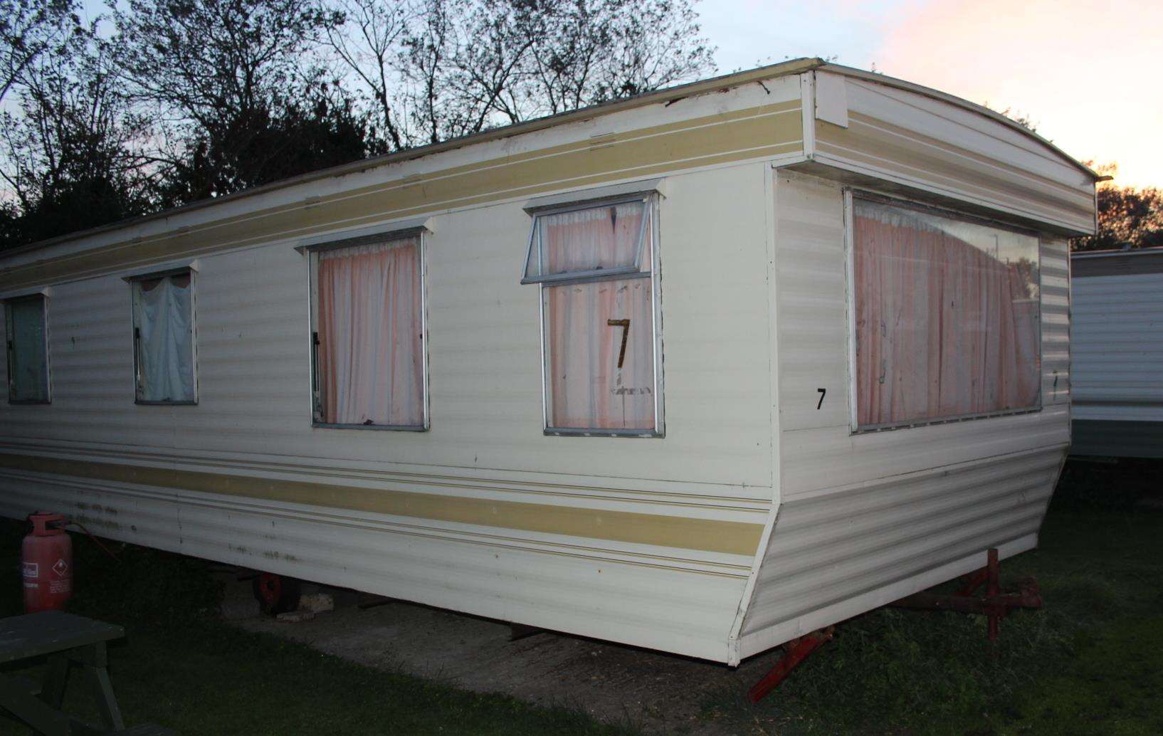
<path id="1" fill-rule="evenodd" d="M 33 530 L 20 550 L 24 613 L 63 610 L 72 595 L 72 540 L 60 514 L 30 514 Z"/>

